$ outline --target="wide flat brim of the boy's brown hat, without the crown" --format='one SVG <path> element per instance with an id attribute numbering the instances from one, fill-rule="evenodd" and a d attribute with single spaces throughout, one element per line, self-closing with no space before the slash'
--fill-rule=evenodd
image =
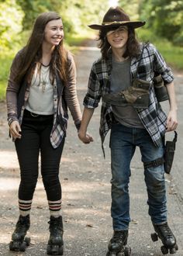
<path id="1" fill-rule="evenodd" d="M 103 25 L 98 25 L 98 24 L 91 24 L 88 25 L 91 29 L 110 29 L 113 27 L 117 27 L 117 26 L 131 26 L 133 27 L 133 29 L 137 29 L 140 26 L 144 26 L 146 24 L 146 22 L 140 22 L 140 21 L 125 21 L 125 22 L 110 22 L 109 24 L 103 24 Z"/>

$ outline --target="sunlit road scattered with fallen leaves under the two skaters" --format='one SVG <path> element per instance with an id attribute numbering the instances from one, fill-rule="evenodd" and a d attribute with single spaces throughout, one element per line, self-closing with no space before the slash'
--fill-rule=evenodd
<path id="1" fill-rule="evenodd" d="M 91 63 L 99 56 L 96 43 L 88 42 L 75 56 L 78 70 L 78 97 L 81 102 L 87 88 Z M 172 175 L 166 176 L 169 223 L 178 238 L 179 251 L 183 255 L 183 75 L 176 72 L 175 84 L 178 92 L 179 127 L 178 146 Z M 167 109 L 167 102 L 163 103 Z M 49 237 L 49 211 L 41 178 L 36 186 L 31 212 L 29 236 L 31 245 L 25 253 L 9 251 L 9 240 L 19 215 L 17 189 L 19 186 L 19 166 L 12 141 L 8 137 L 5 104 L 0 103 L 0 255 L 47 255 Z M 84 145 L 78 140 L 77 132 L 70 118 L 67 140 L 60 164 L 60 179 L 63 191 L 64 255 L 65 256 L 105 256 L 109 238 L 112 236 L 110 217 L 110 157 L 109 136 L 105 141 L 106 160 L 102 157 L 98 135 L 99 111 L 96 109 L 88 132 L 95 141 Z M 171 134 L 170 134 L 171 137 Z M 143 182 L 143 165 L 139 151 L 132 163 L 130 181 L 131 218 L 129 245 L 132 255 L 161 255 L 161 243 L 150 240 L 153 231 L 148 216 L 147 192 Z"/>

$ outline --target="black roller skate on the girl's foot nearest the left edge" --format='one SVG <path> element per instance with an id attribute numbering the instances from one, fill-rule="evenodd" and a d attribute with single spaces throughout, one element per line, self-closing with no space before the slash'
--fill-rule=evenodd
<path id="1" fill-rule="evenodd" d="M 26 232 L 29 230 L 29 226 L 29 215 L 20 215 L 19 220 L 16 223 L 16 229 L 12 234 L 12 241 L 9 243 L 10 251 L 26 251 L 26 247 L 30 244 L 30 238 L 26 237 Z"/>

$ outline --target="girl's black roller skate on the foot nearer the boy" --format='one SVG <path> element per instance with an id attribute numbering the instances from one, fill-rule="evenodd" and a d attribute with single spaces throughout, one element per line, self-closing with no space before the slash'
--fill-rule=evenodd
<path id="1" fill-rule="evenodd" d="M 50 239 L 47 245 L 47 254 L 63 255 L 64 242 L 63 242 L 63 223 L 62 216 L 55 218 L 50 216 Z"/>

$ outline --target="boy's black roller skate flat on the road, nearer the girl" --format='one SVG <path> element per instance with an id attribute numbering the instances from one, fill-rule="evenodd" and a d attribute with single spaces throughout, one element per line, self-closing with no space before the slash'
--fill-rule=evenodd
<path id="1" fill-rule="evenodd" d="M 130 256 L 131 248 L 126 246 L 127 239 L 128 230 L 114 231 L 106 256 Z"/>

